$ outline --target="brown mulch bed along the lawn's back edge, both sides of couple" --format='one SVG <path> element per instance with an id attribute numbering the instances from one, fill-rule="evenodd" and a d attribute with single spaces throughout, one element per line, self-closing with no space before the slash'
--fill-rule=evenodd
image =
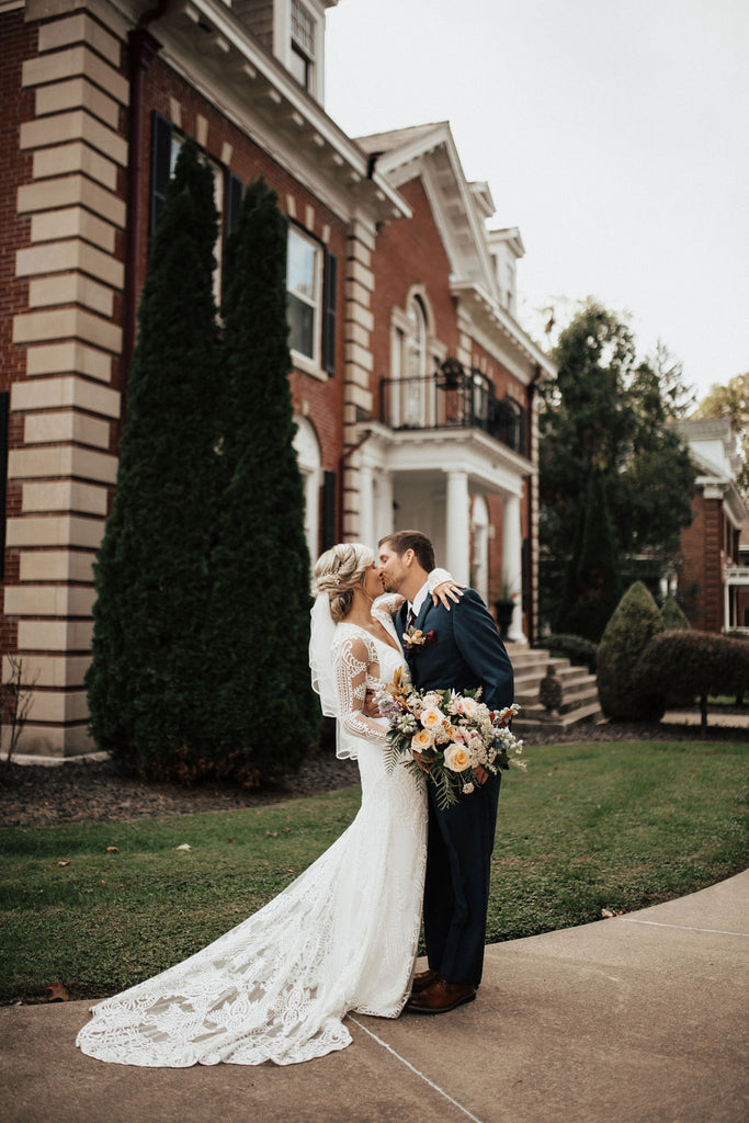
<path id="1" fill-rule="evenodd" d="M 737 713 L 745 711 L 737 711 Z M 565 733 L 528 733 L 533 745 L 574 741 L 736 741 L 747 730 L 709 725 L 703 734 L 694 725 L 606 722 L 577 725 Z M 336 792 L 358 783 L 355 761 L 337 760 L 331 750 L 307 760 L 283 784 L 246 791 L 207 784 L 181 787 L 124 776 L 111 760 L 67 761 L 62 765 L 0 764 L 0 823 L 4 827 L 53 827 L 58 823 L 127 821 L 200 811 L 234 811 L 267 806 L 284 800 Z"/>

